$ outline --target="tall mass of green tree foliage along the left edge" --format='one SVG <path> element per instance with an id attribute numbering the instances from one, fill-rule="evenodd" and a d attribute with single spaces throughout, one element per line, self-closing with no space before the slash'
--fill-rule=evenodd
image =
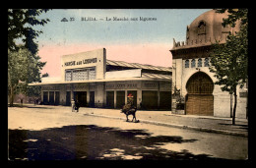
<path id="1" fill-rule="evenodd" d="M 45 62 L 37 56 L 38 45 L 34 40 L 42 33 L 32 27 L 44 26 L 48 19 L 38 20 L 36 17 L 48 9 L 8 9 L 8 96 L 13 106 L 14 96 L 19 92 L 27 95 L 39 94 L 39 87 L 28 86 L 32 82 L 40 82 L 40 70 Z M 21 39 L 24 44 L 17 44 Z"/>

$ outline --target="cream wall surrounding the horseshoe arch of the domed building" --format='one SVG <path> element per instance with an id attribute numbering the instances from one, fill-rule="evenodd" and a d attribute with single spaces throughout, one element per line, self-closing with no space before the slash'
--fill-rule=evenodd
<path id="1" fill-rule="evenodd" d="M 185 60 L 182 59 L 173 59 L 173 72 L 172 72 L 172 81 L 173 85 L 176 82 L 177 89 L 180 89 L 181 95 L 185 96 L 187 94 L 186 84 L 189 78 L 199 72 L 197 68 L 200 69 L 201 72 L 206 73 L 213 81 L 213 83 L 217 82 L 217 79 L 214 77 L 214 73 L 211 73 L 208 67 L 204 67 L 204 58 L 202 58 L 202 67 L 197 67 L 197 59 L 196 67 L 191 68 L 191 60 L 189 59 L 189 68 L 185 68 Z M 176 71 L 176 72 L 175 72 Z M 239 97 L 237 87 L 237 107 L 236 107 L 236 117 L 237 118 L 246 118 L 246 101 L 247 98 Z M 242 90 L 244 92 L 244 90 Z M 230 94 L 226 91 L 222 91 L 221 85 L 214 84 L 214 116 L 216 117 L 230 117 Z M 232 100 L 233 102 L 234 100 Z"/>

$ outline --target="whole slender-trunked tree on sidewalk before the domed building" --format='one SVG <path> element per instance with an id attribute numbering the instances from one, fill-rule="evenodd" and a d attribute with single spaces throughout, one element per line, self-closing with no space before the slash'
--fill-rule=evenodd
<path id="1" fill-rule="evenodd" d="M 223 91 L 228 91 L 234 96 L 232 125 L 235 125 L 235 112 L 237 105 L 237 90 L 248 82 L 248 38 L 247 38 L 247 9 L 222 9 L 218 13 L 227 10 L 228 18 L 224 19 L 223 26 L 229 25 L 234 28 L 237 21 L 240 22 L 238 32 L 230 32 L 224 44 L 213 44 L 211 53 L 210 71 L 215 73 L 218 81 L 215 84 L 222 85 Z"/>

